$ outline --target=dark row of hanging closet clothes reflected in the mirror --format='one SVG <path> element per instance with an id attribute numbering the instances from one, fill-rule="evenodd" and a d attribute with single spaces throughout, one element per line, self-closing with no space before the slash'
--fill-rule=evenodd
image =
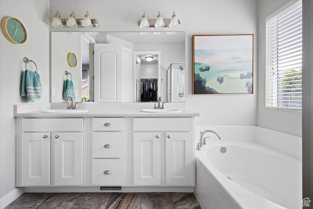
<path id="1" fill-rule="evenodd" d="M 141 81 L 141 102 L 156 101 L 157 80 L 155 78 L 142 78 Z"/>

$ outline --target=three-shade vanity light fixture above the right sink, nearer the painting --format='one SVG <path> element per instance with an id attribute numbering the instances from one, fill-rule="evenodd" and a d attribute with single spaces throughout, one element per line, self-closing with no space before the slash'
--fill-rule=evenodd
<path id="1" fill-rule="evenodd" d="M 171 19 L 163 19 L 161 14 L 157 15 L 156 19 L 147 19 L 145 13 L 143 13 L 141 20 L 138 21 L 138 26 L 141 28 L 163 28 L 170 27 L 176 28 L 180 25 L 180 21 L 177 19 L 175 12 L 173 12 Z"/>

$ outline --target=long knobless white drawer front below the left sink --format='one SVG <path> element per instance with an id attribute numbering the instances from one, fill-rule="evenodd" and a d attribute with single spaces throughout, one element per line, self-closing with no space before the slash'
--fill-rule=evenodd
<path id="1" fill-rule="evenodd" d="M 23 118 L 22 132 L 83 131 L 83 118 Z"/>

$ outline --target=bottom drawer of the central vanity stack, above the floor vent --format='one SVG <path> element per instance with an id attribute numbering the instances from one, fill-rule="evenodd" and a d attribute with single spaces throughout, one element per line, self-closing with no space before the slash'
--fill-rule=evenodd
<path id="1" fill-rule="evenodd" d="M 123 159 L 93 159 L 92 185 L 123 185 Z"/>

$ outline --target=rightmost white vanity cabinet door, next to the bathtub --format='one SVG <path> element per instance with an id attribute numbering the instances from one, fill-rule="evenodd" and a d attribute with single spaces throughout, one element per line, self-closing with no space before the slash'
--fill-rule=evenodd
<path id="1" fill-rule="evenodd" d="M 193 186 L 192 133 L 165 133 L 166 185 Z"/>

